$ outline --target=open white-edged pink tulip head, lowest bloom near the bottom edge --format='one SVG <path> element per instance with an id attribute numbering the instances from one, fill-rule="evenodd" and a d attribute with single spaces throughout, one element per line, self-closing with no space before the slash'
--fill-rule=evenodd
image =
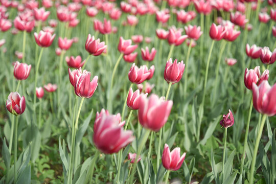
<path id="1" fill-rule="evenodd" d="M 165 144 L 162 154 L 162 164 L 167 170 L 176 171 L 184 162 L 186 153 L 183 153 L 180 157 L 180 148 L 174 148 L 172 152 L 167 144 Z"/>

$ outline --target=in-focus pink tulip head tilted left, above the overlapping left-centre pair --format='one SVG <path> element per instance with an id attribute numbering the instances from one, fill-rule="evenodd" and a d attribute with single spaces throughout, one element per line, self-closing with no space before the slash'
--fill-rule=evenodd
<path id="1" fill-rule="evenodd" d="M 101 55 L 104 51 L 106 51 L 107 45 L 105 42 L 100 42 L 100 38 L 95 40 L 95 37 L 88 34 L 88 37 L 85 42 L 85 50 L 94 56 Z"/>

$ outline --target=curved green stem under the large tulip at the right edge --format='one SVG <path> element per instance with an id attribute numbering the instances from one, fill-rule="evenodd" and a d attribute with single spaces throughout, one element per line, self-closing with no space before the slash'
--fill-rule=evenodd
<path id="1" fill-rule="evenodd" d="M 262 133 L 263 133 L 263 128 L 264 128 L 266 117 L 267 117 L 266 114 L 263 114 L 263 118 L 262 118 L 262 122 L 261 122 L 261 127 L 260 127 L 260 129 L 258 131 L 258 135 L 257 135 L 255 147 L 254 147 L 254 154 L 253 154 L 253 158 L 252 158 L 252 162 L 251 162 L 249 184 L 253 184 L 254 183 L 254 173 L 255 173 L 256 158 L 257 158 L 258 148 L 259 148 L 261 136 L 262 136 Z"/>

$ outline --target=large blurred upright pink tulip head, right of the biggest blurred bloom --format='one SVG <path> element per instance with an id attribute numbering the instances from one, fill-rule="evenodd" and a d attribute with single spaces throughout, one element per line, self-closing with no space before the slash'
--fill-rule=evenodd
<path id="1" fill-rule="evenodd" d="M 152 131 L 159 131 L 168 120 L 173 102 L 171 100 L 160 100 L 155 94 L 152 94 L 149 98 L 142 95 L 139 99 L 138 118 L 140 124 Z"/>

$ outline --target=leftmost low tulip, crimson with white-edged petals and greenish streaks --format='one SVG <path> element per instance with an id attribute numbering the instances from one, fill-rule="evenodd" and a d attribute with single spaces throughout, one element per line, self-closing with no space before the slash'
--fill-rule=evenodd
<path id="1" fill-rule="evenodd" d="M 6 108 L 16 116 L 22 114 L 26 108 L 25 97 L 21 97 L 17 92 L 11 92 L 6 101 Z"/>

